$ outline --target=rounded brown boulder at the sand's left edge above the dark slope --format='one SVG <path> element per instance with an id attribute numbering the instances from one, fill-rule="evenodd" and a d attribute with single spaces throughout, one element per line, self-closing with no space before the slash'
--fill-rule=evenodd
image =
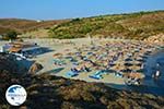
<path id="1" fill-rule="evenodd" d="M 42 69 L 43 69 L 43 65 L 42 65 L 42 64 L 39 64 L 39 63 L 34 63 L 34 64 L 30 68 L 28 73 L 32 74 L 32 75 L 34 75 L 34 74 L 36 74 L 36 72 L 40 71 Z"/>

